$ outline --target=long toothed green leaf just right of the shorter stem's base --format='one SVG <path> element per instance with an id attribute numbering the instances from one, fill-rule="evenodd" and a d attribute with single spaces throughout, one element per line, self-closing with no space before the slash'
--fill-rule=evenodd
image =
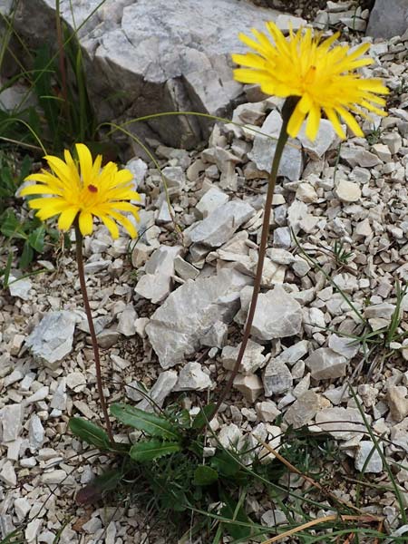
<path id="1" fill-rule="evenodd" d="M 169 420 L 155 413 L 144 412 L 129 404 L 115 403 L 111 406 L 112 415 L 124 425 L 146 432 L 149 436 L 159 436 L 165 440 L 179 440 L 180 433 Z"/>

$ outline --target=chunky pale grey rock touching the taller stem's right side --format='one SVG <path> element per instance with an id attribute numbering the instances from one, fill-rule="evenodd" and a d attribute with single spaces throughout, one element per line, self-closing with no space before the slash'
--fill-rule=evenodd
<path id="1" fill-rule="evenodd" d="M 249 301 L 242 300 L 242 306 L 248 311 Z M 283 287 L 275 286 L 258 296 L 252 335 L 260 340 L 272 340 L 297 335 L 301 328 L 301 306 Z"/>

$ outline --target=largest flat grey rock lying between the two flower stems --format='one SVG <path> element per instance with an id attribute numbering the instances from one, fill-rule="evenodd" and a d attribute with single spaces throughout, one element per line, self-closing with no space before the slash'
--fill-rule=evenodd
<path id="1" fill-rule="evenodd" d="M 251 279 L 236 270 L 188 280 L 151 316 L 146 326 L 162 368 L 184 361 L 199 349 L 200 338 L 217 321 L 229 323 L 239 306 L 239 292 Z"/>

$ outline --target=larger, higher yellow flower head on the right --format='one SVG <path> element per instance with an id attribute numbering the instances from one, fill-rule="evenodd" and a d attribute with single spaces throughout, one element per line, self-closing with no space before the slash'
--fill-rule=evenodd
<path id="1" fill-rule="evenodd" d="M 312 35 L 310 28 L 305 31 L 290 31 L 288 39 L 274 23 L 267 23 L 267 34 L 252 29 L 257 38 L 253 40 L 245 34 L 239 39 L 255 53 L 233 54 L 235 63 L 246 66 L 234 71 L 234 77 L 241 83 L 257 83 L 263 92 L 280 97 L 297 96 L 300 100 L 287 125 L 287 133 L 295 138 L 303 121 L 306 121 L 306 136 L 314 141 L 319 128 L 322 112 L 340 136 L 345 132 L 339 116 L 357 136 L 364 136 L 355 117 L 355 112 L 365 118 L 362 111 L 378 115 L 386 113 L 377 106 L 384 106 L 384 98 L 376 94 L 387 94 L 379 79 L 364 79 L 355 70 L 373 63 L 362 55 L 370 44 L 362 44 L 351 51 L 348 45 L 334 44 L 338 33 L 321 41 L 321 35 Z"/>

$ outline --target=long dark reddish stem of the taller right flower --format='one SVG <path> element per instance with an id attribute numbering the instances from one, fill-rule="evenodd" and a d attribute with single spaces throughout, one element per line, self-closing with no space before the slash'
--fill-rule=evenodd
<path id="1" fill-rule="evenodd" d="M 231 387 L 234 384 L 234 380 L 238 374 L 239 366 L 242 362 L 242 359 L 245 354 L 245 350 L 248 345 L 248 339 L 251 334 L 251 327 L 254 321 L 255 310 L 257 308 L 257 296 L 259 295 L 261 281 L 262 281 L 262 271 L 264 267 L 265 253 L 267 251 L 267 238 L 269 235 L 269 220 L 270 220 L 270 212 L 272 209 L 272 199 L 274 197 L 275 186 L 277 183 L 277 170 L 279 168 L 279 163 L 282 158 L 282 153 L 284 151 L 285 144 L 287 143 L 287 122 L 290 118 L 290 114 L 293 112 L 296 102 L 297 102 L 296 99 L 289 97 L 287 101 L 285 102 L 285 105 L 282 111 L 283 123 L 280 129 L 279 137 L 277 139 L 277 148 L 275 150 L 274 159 L 272 161 L 272 169 L 270 171 L 270 174 L 267 180 L 267 200 L 265 202 L 264 219 L 262 222 L 261 239 L 260 239 L 259 252 L 258 252 L 258 258 L 257 258 L 257 272 L 254 279 L 254 290 L 252 291 L 247 323 L 245 325 L 244 334 L 242 336 L 242 343 L 239 348 L 237 361 L 234 364 L 234 368 L 232 369 L 232 372 L 229 376 L 227 385 L 224 387 L 222 393 L 219 395 L 219 400 L 213 412 L 210 414 L 207 423 L 209 423 L 212 420 L 212 418 L 218 413 L 220 405 L 224 402 L 229 391 L 231 390 Z"/>

